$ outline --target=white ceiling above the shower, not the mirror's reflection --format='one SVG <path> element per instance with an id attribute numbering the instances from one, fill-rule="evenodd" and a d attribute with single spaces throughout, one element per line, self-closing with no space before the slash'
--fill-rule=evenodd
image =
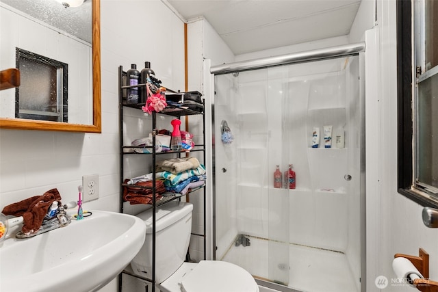
<path id="1" fill-rule="evenodd" d="M 235 55 L 349 34 L 361 0 L 168 0 L 204 17 Z"/>

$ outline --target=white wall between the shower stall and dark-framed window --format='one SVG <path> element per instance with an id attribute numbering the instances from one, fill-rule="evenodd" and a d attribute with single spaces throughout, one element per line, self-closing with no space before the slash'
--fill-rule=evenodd
<path id="1" fill-rule="evenodd" d="M 375 93 L 367 111 L 367 291 L 379 291 L 377 276 L 389 286 L 382 291 L 415 291 L 391 285 L 394 254 L 430 254 L 430 279 L 438 279 L 438 230 L 422 224 L 422 207 L 397 192 L 396 1 L 377 1 Z M 367 82 L 370 81 L 367 79 Z"/>

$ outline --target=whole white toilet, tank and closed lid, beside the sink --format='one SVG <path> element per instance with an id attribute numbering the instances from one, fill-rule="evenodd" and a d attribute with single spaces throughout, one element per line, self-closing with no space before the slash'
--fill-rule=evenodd
<path id="1" fill-rule="evenodd" d="M 258 292 L 248 271 L 223 261 L 184 263 L 193 205 L 168 202 L 155 213 L 155 282 L 162 292 Z M 146 224 L 146 239 L 131 261 L 133 272 L 152 278 L 152 210 L 137 215 Z"/>

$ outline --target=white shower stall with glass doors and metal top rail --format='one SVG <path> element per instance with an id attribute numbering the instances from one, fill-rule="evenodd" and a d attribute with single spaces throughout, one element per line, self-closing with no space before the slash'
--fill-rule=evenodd
<path id="1" fill-rule="evenodd" d="M 211 67 L 214 258 L 262 286 L 365 291 L 364 47 Z"/>

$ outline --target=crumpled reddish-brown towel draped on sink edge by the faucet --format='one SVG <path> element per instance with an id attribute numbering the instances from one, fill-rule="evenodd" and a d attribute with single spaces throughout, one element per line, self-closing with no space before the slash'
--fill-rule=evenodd
<path id="1" fill-rule="evenodd" d="M 42 196 L 33 196 L 20 202 L 10 204 L 3 208 L 1 213 L 5 215 L 23 216 L 23 228 L 25 234 L 36 233 L 40 229 L 44 216 L 49 207 L 55 201 L 61 201 L 60 192 L 57 189 L 50 189 Z"/>

